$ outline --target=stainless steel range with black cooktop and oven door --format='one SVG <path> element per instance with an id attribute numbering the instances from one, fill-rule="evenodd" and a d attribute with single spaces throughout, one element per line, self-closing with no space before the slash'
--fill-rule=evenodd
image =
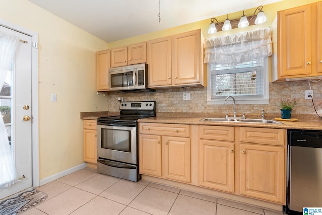
<path id="1" fill-rule="evenodd" d="M 138 119 L 155 116 L 156 102 L 121 102 L 120 115 L 97 119 L 97 171 L 139 181 Z"/>

